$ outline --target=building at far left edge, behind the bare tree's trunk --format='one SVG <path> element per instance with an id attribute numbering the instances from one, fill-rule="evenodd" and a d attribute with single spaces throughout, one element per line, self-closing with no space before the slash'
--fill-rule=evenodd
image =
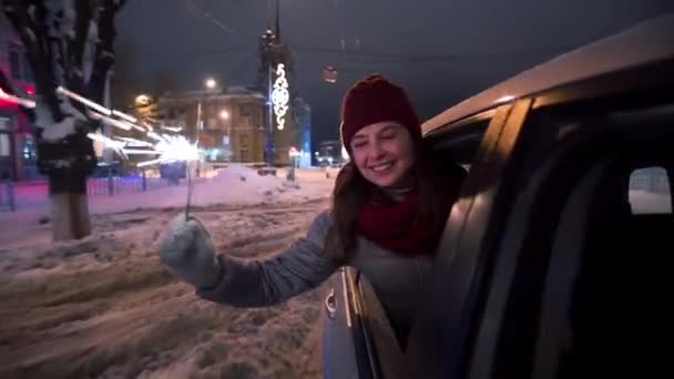
<path id="1" fill-rule="evenodd" d="M 3 14 L 0 14 L 0 71 L 18 95 L 30 98 L 34 94 L 35 84 L 25 50 Z M 0 89 L 0 180 L 40 176 L 34 127 L 27 114 L 3 94 Z"/>

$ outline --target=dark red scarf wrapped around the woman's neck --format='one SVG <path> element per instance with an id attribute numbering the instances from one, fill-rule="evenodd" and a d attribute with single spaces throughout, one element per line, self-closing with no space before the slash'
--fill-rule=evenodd
<path id="1" fill-rule="evenodd" d="M 449 209 L 448 209 L 449 211 Z M 419 194 L 411 191 L 401 202 L 372 191 L 356 218 L 362 237 L 388 250 L 409 255 L 435 255 L 440 231 L 418 216 Z"/>

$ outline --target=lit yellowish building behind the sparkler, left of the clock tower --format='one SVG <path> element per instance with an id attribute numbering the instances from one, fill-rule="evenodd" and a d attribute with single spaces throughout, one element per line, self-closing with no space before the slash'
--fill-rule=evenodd
<path id="1" fill-rule="evenodd" d="M 246 88 L 167 93 L 159 124 L 182 130 L 211 162 L 264 163 L 265 96 Z"/>

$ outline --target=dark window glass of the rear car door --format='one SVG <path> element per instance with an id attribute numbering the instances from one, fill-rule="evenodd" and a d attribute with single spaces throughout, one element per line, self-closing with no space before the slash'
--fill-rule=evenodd
<path id="1" fill-rule="evenodd" d="M 640 319 L 664 311 L 664 301 L 650 299 L 657 299 L 664 289 L 654 278 L 658 262 L 673 247 L 668 181 L 661 167 L 621 173 L 604 172 L 584 197 L 570 202 L 568 207 L 575 212 L 561 218 L 542 301 L 533 378 L 599 372 L 613 377 L 621 370 L 640 370 L 643 361 L 632 357 L 630 344 L 657 344 L 655 318 L 649 324 Z M 622 190 L 626 181 L 629 207 Z M 615 361 L 623 363 L 616 367 Z"/>

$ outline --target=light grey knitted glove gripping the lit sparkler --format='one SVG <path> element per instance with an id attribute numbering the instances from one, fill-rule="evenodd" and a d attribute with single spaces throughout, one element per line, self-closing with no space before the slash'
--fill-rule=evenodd
<path id="1" fill-rule="evenodd" d="M 219 281 L 213 240 L 194 217 L 181 214 L 173 218 L 160 246 L 160 260 L 196 288 L 212 288 Z"/>

